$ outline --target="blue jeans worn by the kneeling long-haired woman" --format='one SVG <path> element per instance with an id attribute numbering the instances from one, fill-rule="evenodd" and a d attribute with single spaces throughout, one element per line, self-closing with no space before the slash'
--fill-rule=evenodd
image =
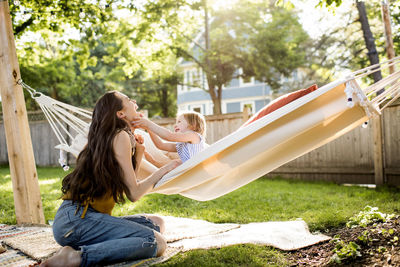
<path id="1" fill-rule="evenodd" d="M 160 228 L 144 216 L 113 217 L 89 206 L 64 200 L 53 223 L 54 239 L 61 246 L 82 252 L 81 266 L 105 265 L 127 260 L 155 257 L 154 230 Z"/>

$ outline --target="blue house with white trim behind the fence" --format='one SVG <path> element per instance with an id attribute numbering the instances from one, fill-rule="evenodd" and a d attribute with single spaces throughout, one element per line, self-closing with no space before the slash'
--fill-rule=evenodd
<path id="1" fill-rule="evenodd" d="M 203 46 L 204 40 L 204 33 L 200 33 L 191 44 L 194 56 L 200 56 L 201 50 L 198 46 Z M 178 112 L 197 111 L 203 115 L 212 115 L 211 96 L 202 89 L 208 89 L 205 73 L 195 62 L 183 59 L 179 62 L 178 69 L 183 74 L 183 84 L 177 88 Z M 237 71 L 237 74 L 242 72 L 241 69 Z M 301 69 L 295 70 L 289 79 L 282 77 L 281 93 L 300 89 L 306 83 L 305 79 L 305 72 Z M 222 113 L 242 112 L 244 107 L 249 107 L 254 114 L 278 96 L 273 94 L 268 84 L 254 78 L 245 80 L 239 76 L 222 90 Z"/>

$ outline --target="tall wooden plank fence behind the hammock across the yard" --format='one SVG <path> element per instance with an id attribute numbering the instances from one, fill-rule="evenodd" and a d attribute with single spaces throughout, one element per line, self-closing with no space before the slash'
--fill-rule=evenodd
<path id="1" fill-rule="evenodd" d="M 206 140 L 212 144 L 240 127 L 247 116 L 243 113 L 206 116 Z M 383 144 L 385 182 L 400 185 L 400 105 L 383 112 Z M 172 129 L 172 118 L 154 120 Z M 370 123 L 372 125 L 372 123 Z M 35 160 L 38 166 L 58 165 L 58 141 L 46 121 L 30 121 Z M 271 172 L 304 180 L 325 180 L 337 183 L 373 184 L 374 151 L 372 128 L 358 127 L 344 136 L 311 151 Z M 244 155 L 245 156 L 245 155 Z M 72 156 L 71 160 L 72 159 Z M 0 122 L 0 164 L 8 164 L 3 123 Z"/>

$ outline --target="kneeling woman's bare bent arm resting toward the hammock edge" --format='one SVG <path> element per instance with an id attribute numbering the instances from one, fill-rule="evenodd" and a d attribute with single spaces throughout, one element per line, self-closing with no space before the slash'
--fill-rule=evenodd
<path id="1" fill-rule="evenodd" d="M 143 195 L 150 192 L 154 185 L 166 173 L 178 166 L 178 161 L 171 161 L 171 163 L 164 165 L 146 179 L 137 181 L 136 174 L 132 166 L 132 145 L 129 134 L 125 131 L 119 132 L 114 138 L 113 148 L 118 164 L 123 171 L 124 182 L 129 190 L 129 192 L 126 192 L 126 195 L 132 202 L 137 201 Z"/>

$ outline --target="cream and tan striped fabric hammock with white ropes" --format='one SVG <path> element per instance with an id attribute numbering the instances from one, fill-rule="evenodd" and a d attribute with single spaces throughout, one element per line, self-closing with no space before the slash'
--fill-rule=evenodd
<path id="1" fill-rule="evenodd" d="M 166 174 L 152 192 L 180 194 L 200 201 L 215 199 L 365 124 L 400 97 L 400 71 L 364 89 L 356 79 L 387 70 L 399 61 L 397 57 L 356 71 L 238 129 Z M 379 94 L 381 91 L 383 93 Z M 34 94 L 31 95 L 35 97 Z M 40 97 L 41 107 L 45 106 L 46 112 L 51 113 L 50 103 L 57 107 L 57 115 L 70 118 L 64 118 L 64 123 L 80 121 L 82 131 L 76 130 L 78 134 L 71 138 L 71 145 L 63 142 L 57 146 L 76 156 L 85 144 L 88 123 L 75 120 L 74 116 L 71 119 L 69 112 L 59 109 L 70 109 L 79 115 L 83 115 L 80 114 L 83 111 L 61 105 L 42 94 Z M 49 118 L 54 121 L 55 116 L 49 115 Z M 153 157 L 166 158 L 147 133 L 140 131 L 140 134 Z M 154 170 L 153 165 L 143 160 L 139 176 L 144 177 Z"/>

